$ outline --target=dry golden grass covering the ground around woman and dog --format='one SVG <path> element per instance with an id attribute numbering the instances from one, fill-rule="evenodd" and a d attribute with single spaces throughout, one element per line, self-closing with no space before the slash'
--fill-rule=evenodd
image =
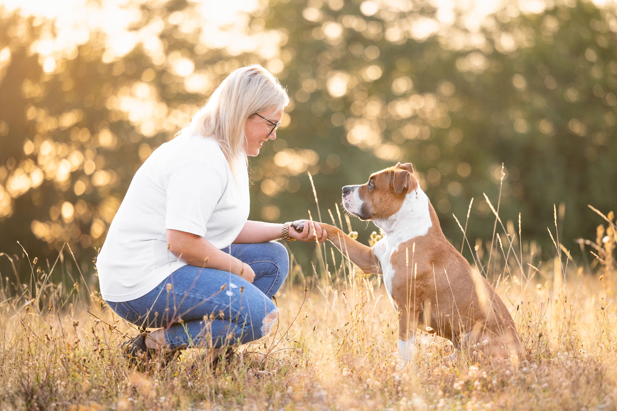
<path id="1" fill-rule="evenodd" d="M 292 267 L 276 332 L 243 346 L 231 365 L 213 370 L 193 349 L 149 373 L 127 367 L 117 347 L 135 330 L 89 294 L 80 273 L 67 272 L 72 288 L 53 284 L 54 268 L 35 259 L 27 287 L 2 278 L 1 409 L 615 409 L 617 234 L 605 225 L 581 243 L 597 254 L 586 251 L 590 266 L 569 258 L 554 229 L 549 261 L 511 223 L 478 243 L 479 267 L 529 354 L 477 363 L 463 352 L 447 367 L 449 344 L 426 335 L 415 364 L 400 368 L 396 313 L 379 277 L 329 246 L 318 249 L 314 275 Z"/>

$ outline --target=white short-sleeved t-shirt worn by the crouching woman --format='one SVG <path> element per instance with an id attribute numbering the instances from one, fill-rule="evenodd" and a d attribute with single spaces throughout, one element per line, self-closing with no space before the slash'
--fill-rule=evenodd
<path id="1" fill-rule="evenodd" d="M 185 266 L 167 250 L 167 229 L 228 247 L 249 216 L 244 155 L 236 180 L 215 139 L 183 133 L 147 158 L 133 177 L 96 261 L 101 295 L 122 302 L 152 291 Z"/>

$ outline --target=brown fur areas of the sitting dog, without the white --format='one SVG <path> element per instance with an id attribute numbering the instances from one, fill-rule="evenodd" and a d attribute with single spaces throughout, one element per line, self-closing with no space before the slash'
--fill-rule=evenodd
<path id="1" fill-rule="evenodd" d="M 407 192 L 418 186 L 412 173 L 410 164 L 399 163 L 371 174 L 358 189 L 363 200 L 360 218 L 383 219 L 397 213 Z M 369 190 L 371 181 L 373 188 Z M 392 299 L 400 315 L 399 338 L 407 341 L 416 328 L 431 327 L 455 347 L 469 348 L 472 354 L 523 354 L 523 343 L 502 299 L 447 241 L 433 206 L 428 206 L 433 223 L 428 233 L 400 244 L 390 258 L 394 268 Z M 320 226 L 328 232 L 328 240 L 362 271 L 382 273 L 373 248 L 334 226 Z"/>

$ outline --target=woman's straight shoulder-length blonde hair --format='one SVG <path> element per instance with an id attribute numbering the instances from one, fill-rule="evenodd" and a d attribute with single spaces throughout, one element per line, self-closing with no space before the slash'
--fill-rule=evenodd
<path id="1" fill-rule="evenodd" d="M 254 113 L 276 107 L 267 113 L 268 117 L 288 104 L 289 97 L 278 79 L 259 64 L 251 64 L 227 76 L 182 132 L 189 129 L 186 131 L 216 139 L 236 176 L 234 160 L 246 149 L 246 120 Z"/>

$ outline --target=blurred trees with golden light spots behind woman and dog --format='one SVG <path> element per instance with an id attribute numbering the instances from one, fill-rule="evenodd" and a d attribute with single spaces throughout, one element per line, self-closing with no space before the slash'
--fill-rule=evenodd
<path id="1" fill-rule="evenodd" d="M 475 199 L 473 245 L 503 163 L 508 231 L 521 213 L 523 240 L 549 243 L 555 204 L 578 247 L 598 224 L 587 204 L 617 200 L 616 37 L 615 4 L 576 0 L 2 0 L 0 251 L 68 243 L 92 272 L 136 169 L 246 63 L 292 97 L 251 158 L 252 219 L 317 218 L 311 173 L 330 222 L 342 185 L 409 161 L 457 246 L 452 214 L 465 224 Z"/>

